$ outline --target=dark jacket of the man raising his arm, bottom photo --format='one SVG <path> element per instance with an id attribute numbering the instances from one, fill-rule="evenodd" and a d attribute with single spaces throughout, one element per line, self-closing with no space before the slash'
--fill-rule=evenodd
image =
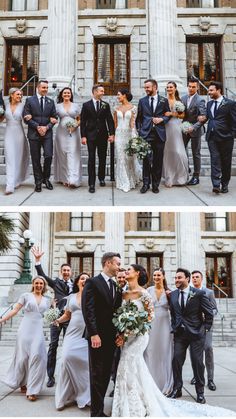
<path id="1" fill-rule="evenodd" d="M 61 278 L 52 279 L 47 276 L 41 265 L 35 265 L 37 274 L 39 276 L 42 276 L 46 279 L 49 287 L 51 287 L 54 290 L 55 298 L 57 300 L 57 307 L 59 310 L 63 310 L 66 305 L 66 298 L 70 293 L 68 292 L 67 285 L 65 281 Z"/>

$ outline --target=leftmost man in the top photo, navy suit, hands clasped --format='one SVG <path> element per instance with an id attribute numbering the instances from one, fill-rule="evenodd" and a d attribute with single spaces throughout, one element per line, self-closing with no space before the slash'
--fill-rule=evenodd
<path id="1" fill-rule="evenodd" d="M 51 164 L 53 156 L 53 126 L 57 122 L 55 103 L 47 97 L 48 82 L 40 80 L 36 95 L 28 98 L 25 103 L 24 117 L 28 125 L 28 140 L 33 164 L 35 192 L 42 191 L 42 183 L 49 190 L 53 189 L 50 182 Z M 54 121 L 54 124 L 52 123 Z M 44 152 L 44 165 L 41 166 L 41 148 Z"/>

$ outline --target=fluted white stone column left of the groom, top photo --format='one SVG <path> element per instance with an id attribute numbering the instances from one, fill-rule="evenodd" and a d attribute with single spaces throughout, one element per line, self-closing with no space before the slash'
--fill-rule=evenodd
<path id="1" fill-rule="evenodd" d="M 48 2 L 48 81 L 62 89 L 76 73 L 77 0 Z"/>

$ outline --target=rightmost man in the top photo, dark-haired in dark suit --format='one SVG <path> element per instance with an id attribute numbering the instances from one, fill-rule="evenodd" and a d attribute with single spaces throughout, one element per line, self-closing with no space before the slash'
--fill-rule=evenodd
<path id="1" fill-rule="evenodd" d="M 219 194 L 229 191 L 232 153 L 236 137 L 236 102 L 222 95 L 222 84 L 212 81 L 208 89 L 210 100 L 207 104 L 208 120 L 206 140 L 211 156 L 212 192 Z"/>

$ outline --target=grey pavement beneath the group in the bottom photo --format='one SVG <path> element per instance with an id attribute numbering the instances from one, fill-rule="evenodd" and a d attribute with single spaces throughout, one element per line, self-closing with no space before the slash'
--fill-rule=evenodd
<path id="1" fill-rule="evenodd" d="M 13 348 L 1 347 L 0 351 L 0 379 L 4 376 L 12 359 Z M 215 354 L 215 383 L 216 391 L 206 388 L 205 396 L 207 403 L 213 406 L 220 406 L 232 409 L 236 412 L 236 348 L 214 349 Z M 58 363 L 59 365 L 59 363 Z M 189 384 L 192 378 L 192 370 L 189 363 L 189 356 L 184 366 L 184 400 L 195 403 L 195 389 Z M 19 390 L 12 391 L 0 383 L 0 417 L 88 417 L 89 408 L 78 409 L 76 405 L 67 407 L 57 412 L 54 406 L 54 388 L 48 389 L 46 385 L 39 399 L 29 402 Z M 105 399 L 105 413 L 111 412 L 112 398 Z M 235 413 L 236 415 L 236 413 Z"/>

